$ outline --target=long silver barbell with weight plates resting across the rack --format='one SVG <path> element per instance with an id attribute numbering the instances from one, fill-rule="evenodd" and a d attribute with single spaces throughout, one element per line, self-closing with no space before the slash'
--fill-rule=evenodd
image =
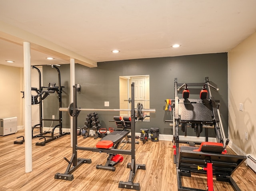
<path id="1" fill-rule="evenodd" d="M 68 107 L 59 108 L 60 111 L 67 111 L 70 116 L 75 116 L 73 112 L 74 104 L 73 102 L 69 104 Z M 131 111 L 131 109 L 90 109 L 90 108 L 77 108 L 78 111 Z M 156 109 L 144 109 L 141 103 L 137 104 L 137 108 L 135 109 L 138 118 L 142 118 L 144 116 L 144 112 L 154 113 Z"/>

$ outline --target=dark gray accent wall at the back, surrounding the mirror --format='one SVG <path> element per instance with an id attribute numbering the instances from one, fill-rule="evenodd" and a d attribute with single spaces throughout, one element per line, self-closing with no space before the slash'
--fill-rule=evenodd
<path id="1" fill-rule="evenodd" d="M 43 67 L 44 82 L 54 77 L 50 70 L 53 69 L 47 66 Z M 69 65 L 62 65 L 60 71 L 62 85 L 65 86 L 62 106 L 68 107 Z M 119 108 L 119 76 L 150 75 L 150 108 L 156 109 L 156 113 L 150 113 L 150 122 L 136 122 L 136 132 L 140 132 L 140 128 L 158 127 L 160 134 L 172 134 L 173 132 L 170 123 L 165 122 L 165 120 L 172 120 L 172 112 L 164 110 L 164 100 L 174 99 L 174 78 L 178 78 L 178 83 L 204 83 L 205 77 L 209 77 L 210 83 L 220 89 L 218 92 L 214 89 L 211 90 L 214 98 L 220 100 L 222 123 L 226 136 L 228 135 L 227 53 L 108 61 L 98 63 L 96 68 L 76 64 L 75 74 L 75 82 L 82 86 L 81 92 L 78 93 L 78 107 L 95 109 Z M 46 84 L 44 83 L 44 85 Z M 200 90 L 201 88 L 190 89 L 190 98 L 199 98 Z M 182 91 L 178 96 L 182 97 Z M 46 99 L 45 102 L 48 101 Z M 56 100 L 58 104 L 58 99 L 56 98 Z M 110 106 L 104 107 L 104 101 L 109 101 Z M 51 113 L 55 110 L 50 108 L 54 104 L 56 104 L 55 101 L 49 99 L 49 104 L 44 104 L 44 114 L 52 116 Z M 79 127 L 84 126 L 87 113 L 90 112 L 80 112 Z M 119 115 L 119 112 L 97 113 L 103 128 L 115 127 L 114 122 L 108 120 Z M 63 112 L 63 128 L 69 128 L 69 117 L 66 112 Z M 183 133 L 180 132 L 180 135 Z M 188 135 L 195 136 L 194 129 L 189 128 Z M 204 130 L 201 135 L 204 135 Z M 213 129 L 209 130 L 209 135 L 215 137 Z"/>

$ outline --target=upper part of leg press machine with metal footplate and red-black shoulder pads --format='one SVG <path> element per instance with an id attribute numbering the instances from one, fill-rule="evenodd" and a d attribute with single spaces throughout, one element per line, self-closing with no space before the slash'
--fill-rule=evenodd
<path id="1" fill-rule="evenodd" d="M 182 87 L 185 87 L 182 93 L 183 98 L 179 98 L 178 91 L 180 91 Z M 188 87 L 202 87 L 200 99 L 190 99 Z M 218 91 L 218 88 L 210 84 L 208 77 L 205 77 L 204 83 L 182 84 L 178 83 L 177 78 L 174 79 L 175 99 L 172 103 L 174 163 L 176 163 L 179 158 L 179 143 L 188 143 L 180 142 L 178 134 L 179 126 L 181 126 L 181 129 L 186 136 L 187 126 L 190 124 L 189 126 L 195 129 L 197 137 L 200 136 L 203 125 L 213 126 L 217 142 L 222 143 L 223 145 L 225 144 L 224 149 L 226 149 L 226 146 L 228 145 L 229 140 L 226 140 L 220 117 L 220 103 L 216 104 L 216 100 L 211 93 L 211 88 Z M 208 142 L 208 128 L 205 128 L 205 141 Z"/>

